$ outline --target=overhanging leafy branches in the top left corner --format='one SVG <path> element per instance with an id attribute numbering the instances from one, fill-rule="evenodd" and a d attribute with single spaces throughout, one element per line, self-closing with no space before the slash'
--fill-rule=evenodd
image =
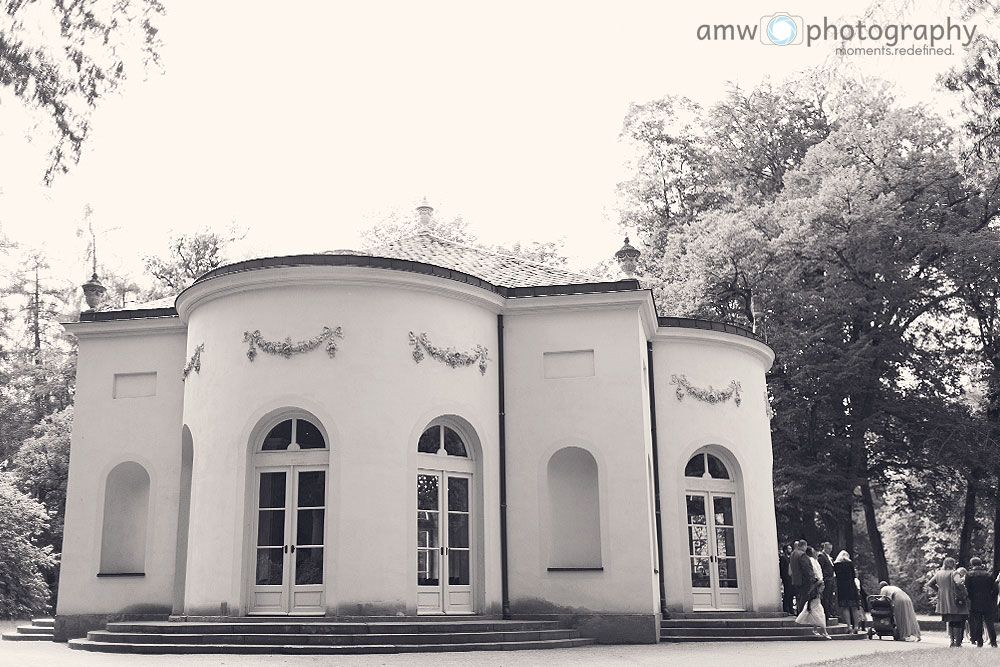
<path id="1" fill-rule="evenodd" d="M 98 103 L 133 69 L 158 62 L 159 0 L 9 0 L 0 21 L 0 86 L 51 121 L 45 183 L 80 161 Z M 41 26 L 36 28 L 35 26 Z"/>

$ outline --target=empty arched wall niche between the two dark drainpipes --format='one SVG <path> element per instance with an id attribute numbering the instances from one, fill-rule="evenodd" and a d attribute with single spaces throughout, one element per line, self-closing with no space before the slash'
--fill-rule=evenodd
<path id="1" fill-rule="evenodd" d="M 548 464 L 551 568 L 601 567 L 597 461 L 585 449 L 560 449 Z"/>

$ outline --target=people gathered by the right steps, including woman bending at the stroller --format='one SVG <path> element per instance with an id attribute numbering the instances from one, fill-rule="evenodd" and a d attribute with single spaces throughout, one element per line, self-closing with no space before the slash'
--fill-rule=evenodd
<path id="1" fill-rule="evenodd" d="M 814 549 L 805 540 L 797 540 L 784 545 L 778 557 L 784 588 L 782 608 L 785 613 L 795 616 L 797 623 L 812 625 L 814 634 L 827 639 L 831 639 L 827 618 L 841 620 L 850 632 L 857 633 L 865 629 L 868 611 L 868 595 L 851 555 L 841 551 L 836 558 L 831 558 L 832 554 L 830 542 L 823 542 L 819 549 Z M 884 581 L 879 587 L 879 593 L 892 600 L 896 638 L 920 641 L 920 626 L 910 597 Z"/>

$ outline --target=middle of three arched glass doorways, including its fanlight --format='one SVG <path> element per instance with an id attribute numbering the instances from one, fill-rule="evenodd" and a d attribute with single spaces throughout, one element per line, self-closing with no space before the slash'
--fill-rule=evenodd
<path id="1" fill-rule="evenodd" d="M 475 611 L 472 448 L 455 424 L 432 422 L 417 442 L 417 613 Z"/>

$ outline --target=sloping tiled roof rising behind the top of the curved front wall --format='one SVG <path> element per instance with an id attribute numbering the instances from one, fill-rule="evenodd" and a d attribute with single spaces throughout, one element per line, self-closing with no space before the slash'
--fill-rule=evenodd
<path id="1" fill-rule="evenodd" d="M 501 287 L 541 287 L 602 282 L 601 278 L 446 241 L 428 232 L 393 241 L 370 253 L 461 271 Z"/>

